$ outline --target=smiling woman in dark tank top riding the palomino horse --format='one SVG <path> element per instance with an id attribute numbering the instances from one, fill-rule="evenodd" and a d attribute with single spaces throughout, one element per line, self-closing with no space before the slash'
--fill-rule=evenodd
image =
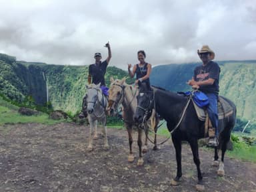
<path id="1" fill-rule="evenodd" d="M 144 50 L 139 50 L 137 52 L 138 54 L 138 60 L 139 64 L 135 64 L 133 66 L 133 70 L 131 71 L 131 64 L 128 64 L 128 72 L 131 78 L 135 76 L 136 74 L 136 80 L 135 84 L 138 84 L 138 82 L 146 82 L 148 85 L 150 85 L 149 81 L 149 75 L 151 73 L 151 64 L 145 62 L 146 54 Z"/>

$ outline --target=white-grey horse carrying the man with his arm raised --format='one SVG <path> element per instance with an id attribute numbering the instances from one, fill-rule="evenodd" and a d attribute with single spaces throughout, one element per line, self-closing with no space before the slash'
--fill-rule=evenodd
<path id="1" fill-rule="evenodd" d="M 87 101 L 87 112 L 88 112 L 88 121 L 90 124 L 90 134 L 89 134 L 89 145 L 88 149 L 91 151 L 93 149 L 93 139 L 97 138 L 97 124 L 98 121 L 102 123 L 103 135 L 105 137 L 105 144 L 104 148 L 108 149 L 109 144 L 107 142 L 107 126 L 106 126 L 106 114 L 105 109 L 107 106 L 107 99 L 103 96 L 103 93 L 100 88 L 100 84 L 90 84 L 86 86 L 87 94 L 86 94 L 86 101 Z M 93 136 L 94 130 L 94 136 Z"/>

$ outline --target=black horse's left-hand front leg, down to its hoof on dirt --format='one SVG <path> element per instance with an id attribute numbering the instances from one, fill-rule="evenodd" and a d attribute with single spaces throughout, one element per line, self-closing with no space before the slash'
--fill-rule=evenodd
<path id="1" fill-rule="evenodd" d="M 181 140 L 172 137 L 173 140 L 173 145 L 175 147 L 175 153 L 176 153 L 176 162 L 177 162 L 177 174 L 176 177 L 171 180 L 171 185 L 179 185 L 180 179 L 182 176 L 182 171 L 181 171 Z"/>

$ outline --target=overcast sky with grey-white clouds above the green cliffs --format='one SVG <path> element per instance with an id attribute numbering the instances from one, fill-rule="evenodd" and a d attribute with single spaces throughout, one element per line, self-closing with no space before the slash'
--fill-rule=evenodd
<path id="1" fill-rule="evenodd" d="M 93 54 L 126 68 L 143 49 L 147 62 L 256 59 L 255 0 L 0 0 L 0 52 L 17 60 L 91 64 Z"/>

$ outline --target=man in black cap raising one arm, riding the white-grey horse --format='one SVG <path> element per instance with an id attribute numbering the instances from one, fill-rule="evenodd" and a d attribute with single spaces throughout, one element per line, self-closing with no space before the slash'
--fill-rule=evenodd
<path id="1" fill-rule="evenodd" d="M 89 65 L 89 74 L 88 74 L 88 84 L 99 84 L 101 83 L 101 90 L 103 94 L 106 96 L 108 95 L 108 88 L 106 87 L 105 84 L 105 73 L 107 70 L 107 65 L 109 64 L 109 60 L 111 59 L 111 48 L 109 45 L 109 42 L 105 45 L 108 50 L 108 56 L 107 59 L 101 62 L 101 53 L 96 52 L 94 54 L 95 58 L 95 63 Z M 86 100 L 85 97 L 83 98 L 83 104 L 82 104 L 82 110 L 81 113 L 79 114 L 79 118 L 85 118 L 87 116 L 87 106 L 86 106 Z"/>

